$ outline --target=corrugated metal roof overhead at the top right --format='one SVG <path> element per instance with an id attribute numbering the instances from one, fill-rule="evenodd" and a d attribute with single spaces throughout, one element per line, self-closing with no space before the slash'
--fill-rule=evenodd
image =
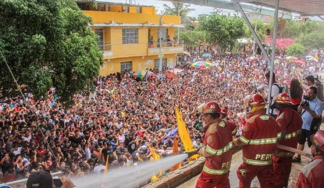
<path id="1" fill-rule="evenodd" d="M 274 8 L 275 0 L 231 0 L 232 3 L 249 3 Z M 304 16 L 324 15 L 324 0 L 279 0 L 279 9 Z"/>

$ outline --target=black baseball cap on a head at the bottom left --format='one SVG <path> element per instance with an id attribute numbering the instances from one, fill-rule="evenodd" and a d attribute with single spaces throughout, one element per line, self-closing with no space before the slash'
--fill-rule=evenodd
<path id="1" fill-rule="evenodd" d="M 26 183 L 27 188 L 53 187 L 53 177 L 50 173 L 39 170 L 29 175 Z"/>

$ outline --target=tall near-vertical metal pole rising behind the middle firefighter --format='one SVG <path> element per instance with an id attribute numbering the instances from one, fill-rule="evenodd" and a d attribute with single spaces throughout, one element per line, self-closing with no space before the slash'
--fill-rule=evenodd
<path id="1" fill-rule="evenodd" d="M 271 64 L 270 64 L 270 78 L 269 78 L 269 89 L 268 89 L 268 99 L 269 105 L 267 106 L 267 114 L 269 114 L 269 109 L 271 105 L 271 91 L 272 91 L 272 79 L 273 79 L 273 68 L 274 68 L 274 55 L 275 55 L 275 41 L 277 35 L 277 23 L 278 23 L 278 7 L 279 0 L 275 1 L 275 11 L 274 11 L 274 23 L 273 23 L 273 33 L 272 33 L 272 51 L 271 51 Z"/>

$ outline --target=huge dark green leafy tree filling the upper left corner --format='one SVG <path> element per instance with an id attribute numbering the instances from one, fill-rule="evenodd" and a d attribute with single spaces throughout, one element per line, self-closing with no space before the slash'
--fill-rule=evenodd
<path id="1" fill-rule="evenodd" d="M 18 84 L 30 86 L 36 99 L 55 87 L 69 106 L 102 63 L 91 17 L 74 0 L 3 0 L 0 10 L 0 49 Z M 0 66 L 0 90 L 8 95 L 15 87 L 3 59 Z"/>

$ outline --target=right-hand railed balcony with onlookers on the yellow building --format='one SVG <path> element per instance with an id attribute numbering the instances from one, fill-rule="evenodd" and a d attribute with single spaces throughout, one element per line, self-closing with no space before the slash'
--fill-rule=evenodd
<path id="1" fill-rule="evenodd" d="M 148 43 L 147 55 L 158 55 L 160 53 L 160 43 Z M 183 41 L 161 43 L 161 53 L 176 54 L 183 53 Z"/>

